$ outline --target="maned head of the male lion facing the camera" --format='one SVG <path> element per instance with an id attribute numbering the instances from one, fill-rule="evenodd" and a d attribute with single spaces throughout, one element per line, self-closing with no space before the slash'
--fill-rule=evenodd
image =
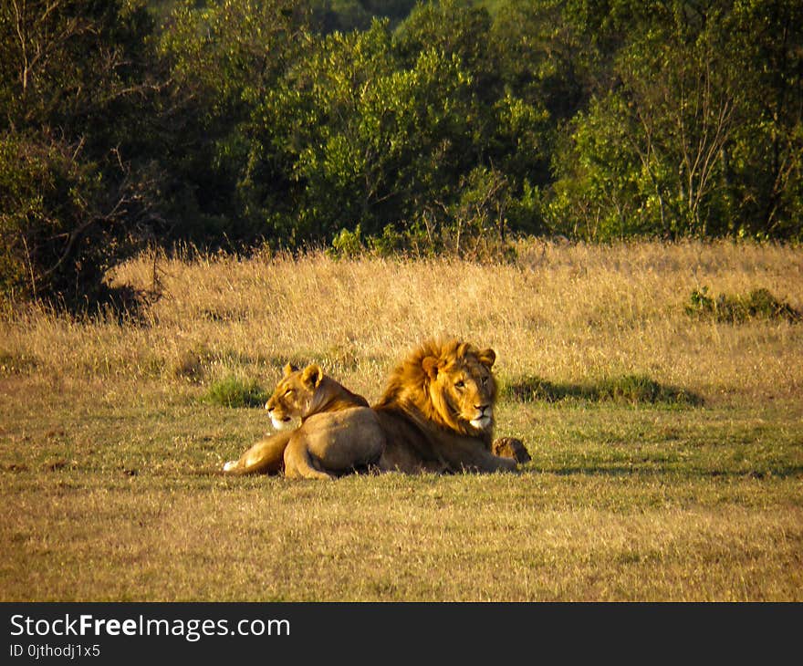
<path id="1" fill-rule="evenodd" d="M 493 349 L 452 342 L 424 355 L 424 390 L 438 421 L 456 432 L 490 433 L 494 427 L 496 382 Z"/>

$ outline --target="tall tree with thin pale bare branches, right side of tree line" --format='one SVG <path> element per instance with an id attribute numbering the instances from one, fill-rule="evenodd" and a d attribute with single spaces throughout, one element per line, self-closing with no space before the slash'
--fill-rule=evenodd
<path id="1" fill-rule="evenodd" d="M 662 234 L 721 234 L 720 157 L 739 121 L 744 82 L 718 14 L 704 16 L 699 29 L 685 12 L 676 16 L 673 29 L 651 31 L 620 55 L 623 110 L 637 127 L 631 150 L 657 202 Z"/>

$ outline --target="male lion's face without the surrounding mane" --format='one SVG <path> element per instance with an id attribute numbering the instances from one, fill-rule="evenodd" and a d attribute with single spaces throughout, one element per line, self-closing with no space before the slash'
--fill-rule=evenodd
<path id="1" fill-rule="evenodd" d="M 492 352 L 493 353 L 493 352 Z M 430 390 L 459 421 L 485 432 L 494 426 L 496 382 L 491 374 L 493 357 L 467 355 L 438 371 Z M 434 396 L 433 396 L 434 398 Z"/>

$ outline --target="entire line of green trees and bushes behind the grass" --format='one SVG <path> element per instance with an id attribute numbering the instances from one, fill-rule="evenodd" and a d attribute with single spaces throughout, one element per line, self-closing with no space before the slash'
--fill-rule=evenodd
<path id="1" fill-rule="evenodd" d="M 0 292 L 143 245 L 803 236 L 796 0 L 0 0 Z"/>

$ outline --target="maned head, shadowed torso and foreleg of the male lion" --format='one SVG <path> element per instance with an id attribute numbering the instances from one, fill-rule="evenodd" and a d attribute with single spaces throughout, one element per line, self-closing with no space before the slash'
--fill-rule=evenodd
<path id="1" fill-rule="evenodd" d="M 513 471 L 491 453 L 496 382 L 493 349 L 430 340 L 391 373 L 375 405 L 385 434 L 379 467 L 401 472 Z"/>

